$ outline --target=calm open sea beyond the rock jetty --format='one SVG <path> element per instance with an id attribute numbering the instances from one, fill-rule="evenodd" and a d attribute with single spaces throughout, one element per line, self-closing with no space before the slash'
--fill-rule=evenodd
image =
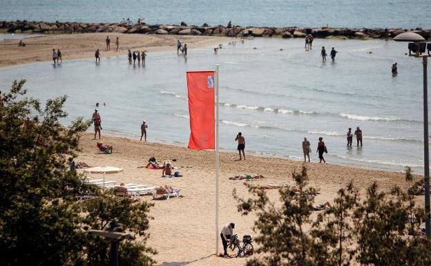
<path id="1" fill-rule="evenodd" d="M 427 0 L 0 0 L 0 20 L 431 28 Z"/>

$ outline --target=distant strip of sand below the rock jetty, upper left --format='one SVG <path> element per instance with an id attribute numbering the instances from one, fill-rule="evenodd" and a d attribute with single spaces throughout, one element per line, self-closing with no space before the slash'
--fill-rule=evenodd
<path id="1" fill-rule="evenodd" d="M 106 36 L 111 39 L 111 50 L 106 51 Z M 115 52 L 115 39 L 119 37 L 119 52 Z M 189 48 L 214 46 L 227 40 L 226 37 L 176 36 L 176 35 L 142 35 L 122 33 L 82 33 L 45 35 L 23 39 L 25 47 L 18 47 L 19 39 L 0 41 L 0 67 L 17 64 L 28 64 L 37 61 L 52 60 L 52 48 L 60 49 L 63 60 L 94 57 L 95 50 L 100 49 L 103 57 L 126 55 L 127 50 L 175 50 L 177 39 L 186 43 Z"/>

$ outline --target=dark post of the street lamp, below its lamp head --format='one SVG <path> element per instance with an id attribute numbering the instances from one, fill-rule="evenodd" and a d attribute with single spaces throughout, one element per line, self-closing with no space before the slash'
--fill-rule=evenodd
<path id="1" fill-rule="evenodd" d="M 419 49 L 418 49 L 419 50 Z M 428 239 L 431 238 L 430 220 L 430 155 L 428 149 L 428 58 L 423 58 L 423 164 L 425 175 L 425 233 Z"/>

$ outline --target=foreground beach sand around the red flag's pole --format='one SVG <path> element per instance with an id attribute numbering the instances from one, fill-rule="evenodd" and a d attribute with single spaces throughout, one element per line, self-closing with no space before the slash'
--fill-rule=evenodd
<path id="1" fill-rule="evenodd" d="M 96 140 L 92 134 L 82 137 L 82 153 L 77 162 L 86 162 L 90 166 L 106 164 L 122 167 L 124 173 L 110 176 L 108 180 L 117 182 L 138 182 L 148 185 L 169 184 L 181 189 L 184 198 L 169 200 L 152 200 L 150 196 L 141 197 L 149 200 L 155 206 L 151 209 L 149 245 L 157 249 L 155 256 L 157 265 L 245 265 L 245 258 L 218 258 L 215 253 L 215 157 L 213 151 L 191 151 L 185 147 L 155 144 L 129 140 L 118 137 L 102 137 L 106 144 L 113 145 L 113 154 L 99 154 Z M 233 146 L 235 143 L 233 143 Z M 161 178 L 162 170 L 142 168 L 151 155 L 157 160 L 173 160 L 174 167 L 178 167 L 182 178 Z M 220 229 L 228 222 L 236 222 L 235 233 L 242 238 L 253 231 L 253 216 L 240 216 L 236 209 L 236 202 L 232 198 L 232 190 L 236 189 L 242 197 L 248 191 L 241 180 L 228 178 L 238 174 L 262 174 L 262 180 L 249 181 L 253 184 L 289 184 L 292 171 L 299 171 L 302 162 L 284 160 L 280 158 L 262 158 L 247 156 L 247 160 L 238 161 L 237 153 L 220 154 Z M 307 163 L 309 169 L 309 183 L 320 189 L 316 202 L 330 201 L 336 192 L 344 187 L 349 180 L 361 189 L 377 182 L 383 190 L 392 188 L 395 184 L 406 188 L 407 184 L 402 173 L 390 173 L 358 169 L 334 164 Z M 96 177 L 96 176 L 95 176 Z M 418 177 L 416 177 L 418 178 Z M 272 200 L 278 198 L 278 190 L 269 190 Z M 218 235 L 220 234 L 218 230 Z M 220 236 L 218 236 L 220 237 Z M 222 245 L 219 241 L 219 251 Z"/>

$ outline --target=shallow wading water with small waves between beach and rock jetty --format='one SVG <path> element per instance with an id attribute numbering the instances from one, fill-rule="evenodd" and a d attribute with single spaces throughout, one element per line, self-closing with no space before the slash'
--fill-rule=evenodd
<path id="1" fill-rule="evenodd" d="M 37 63 L 0 68 L 0 88 L 13 79 L 28 79 L 28 95 L 41 100 L 67 95 L 64 121 L 90 119 L 95 103 L 102 134 L 137 138 L 149 125 L 149 141 L 186 145 L 189 139 L 187 70 L 213 70 L 220 64 L 220 146 L 235 151 L 242 132 L 246 153 L 302 160 L 301 142 L 318 137 L 327 162 L 402 171 L 423 167 L 422 64 L 405 55 L 406 44 L 394 41 L 316 39 L 305 51 L 303 39 L 247 39 L 189 50 L 149 53 L 146 66 L 129 65 L 127 55 Z M 336 61 L 320 58 L 338 50 Z M 280 50 L 282 49 L 282 50 Z M 390 68 L 398 62 L 399 75 Z M 104 103 L 106 106 L 104 106 Z M 363 130 L 363 146 L 347 148 L 346 133 Z M 93 128 L 90 129 L 92 131 Z"/>

